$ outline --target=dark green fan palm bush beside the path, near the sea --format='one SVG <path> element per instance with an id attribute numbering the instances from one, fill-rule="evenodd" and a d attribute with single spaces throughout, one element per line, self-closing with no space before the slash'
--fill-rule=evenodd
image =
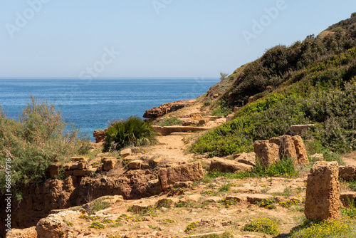
<path id="1" fill-rule="evenodd" d="M 152 123 L 136 116 L 112 123 L 105 132 L 104 152 L 121 150 L 129 145 L 150 145 L 155 140 Z"/>

